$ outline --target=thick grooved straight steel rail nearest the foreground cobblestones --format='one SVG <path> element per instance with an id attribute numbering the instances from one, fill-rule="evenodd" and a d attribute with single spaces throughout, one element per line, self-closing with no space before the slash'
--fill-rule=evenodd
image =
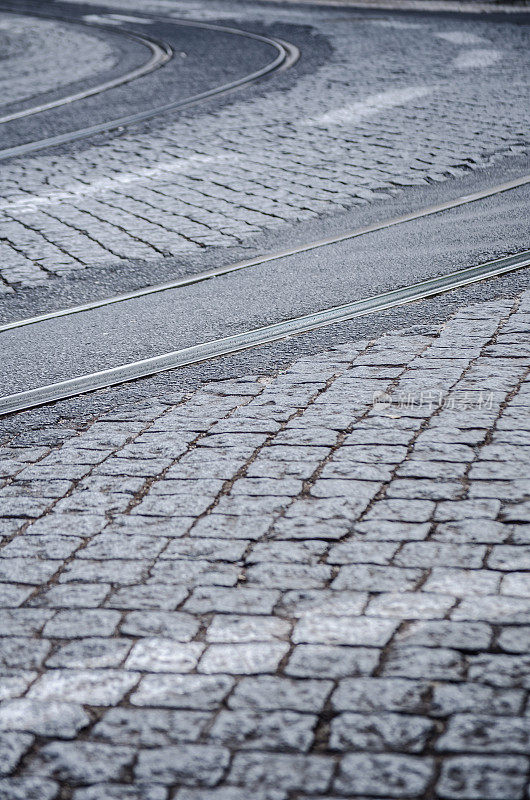
<path id="1" fill-rule="evenodd" d="M 517 255 L 498 258 L 495 261 L 489 261 L 478 266 L 467 267 L 458 272 L 441 275 L 438 278 L 430 278 L 401 289 L 393 289 L 390 292 L 384 292 L 363 300 L 355 300 L 352 303 L 316 311 L 295 319 L 288 319 L 262 328 L 244 331 L 223 339 L 214 339 L 192 347 L 164 353 L 160 356 L 134 361 L 37 389 L 7 395 L 0 398 L 0 416 L 12 414 L 16 411 L 26 411 L 36 406 L 64 400 L 68 397 L 76 397 L 97 389 L 117 386 L 138 378 L 146 378 L 177 367 L 198 364 L 219 356 L 249 350 L 279 339 L 287 339 L 291 336 L 306 333 L 316 328 L 434 297 L 452 289 L 468 286 L 471 283 L 528 266 L 530 266 L 530 250 Z"/>

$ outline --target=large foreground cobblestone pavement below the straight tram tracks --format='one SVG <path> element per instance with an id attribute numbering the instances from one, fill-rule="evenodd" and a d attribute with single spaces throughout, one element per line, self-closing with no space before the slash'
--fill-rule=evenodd
<path id="1" fill-rule="evenodd" d="M 2 798 L 527 798 L 529 327 L 4 434 Z"/>

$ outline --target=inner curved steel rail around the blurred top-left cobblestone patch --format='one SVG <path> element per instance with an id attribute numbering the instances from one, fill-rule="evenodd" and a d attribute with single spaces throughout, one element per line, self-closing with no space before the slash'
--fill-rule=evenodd
<path id="1" fill-rule="evenodd" d="M 25 14 L 24 16 L 33 16 L 32 14 Z M 85 25 L 87 23 L 83 22 L 71 22 L 73 25 Z M 103 28 L 103 25 L 88 25 L 88 27 L 99 27 Z M 108 28 L 105 28 L 108 30 Z M 140 42 L 140 44 L 145 45 L 151 50 L 151 58 L 141 67 L 136 67 L 136 69 L 130 70 L 129 72 L 125 73 L 125 75 L 121 75 L 119 78 L 114 78 L 110 81 L 105 81 L 104 83 L 100 83 L 97 86 L 92 86 L 90 89 L 84 89 L 81 92 L 75 92 L 74 94 L 69 94 L 64 97 L 59 97 L 57 100 L 50 100 L 49 103 L 42 103 L 38 106 L 31 106 L 31 108 L 22 109 L 22 111 L 15 111 L 13 114 L 6 114 L 3 117 L 0 117 L 0 124 L 4 122 L 12 122 L 15 119 L 20 119 L 21 117 L 30 117 L 33 114 L 40 114 L 41 111 L 48 111 L 51 108 L 59 108 L 59 106 L 64 106 L 69 103 L 74 103 L 76 100 L 84 100 L 86 97 L 92 97 L 95 94 L 101 94 L 102 92 L 106 92 L 109 89 L 114 89 L 116 86 L 121 86 L 124 83 L 130 83 L 137 78 L 141 78 L 143 75 L 147 75 L 149 72 L 153 72 L 155 69 L 167 64 L 167 62 L 173 57 L 173 48 L 170 47 L 169 44 L 166 42 L 156 41 L 155 39 L 151 39 L 147 36 L 143 36 L 139 33 L 132 33 L 131 31 L 122 31 L 114 32 L 116 35 L 125 36 L 128 39 L 132 39 L 133 41 Z"/>

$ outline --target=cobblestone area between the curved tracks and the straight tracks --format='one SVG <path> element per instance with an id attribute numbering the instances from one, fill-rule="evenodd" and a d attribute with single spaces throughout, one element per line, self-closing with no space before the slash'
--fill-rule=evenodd
<path id="1" fill-rule="evenodd" d="M 173 13 L 235 15 L 216 2 L 179 3 Z M 270 6 L 237 6 L 241 27 L 266 31 L 270 20 Z M 284 38 L 311 25 L 315 48 L 325 41 L 331 54 L 311 74 L 276 78 L 215 113 L 166 117 L 72 154 L 5 165 L 0 292 L 87 266 L 249 243 L 526 151 L 524 27 L 276 7 L 274 21 Z"/>

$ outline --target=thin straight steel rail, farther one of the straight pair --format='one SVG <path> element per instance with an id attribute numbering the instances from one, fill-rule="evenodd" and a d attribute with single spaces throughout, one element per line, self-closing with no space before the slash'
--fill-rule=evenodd
<path id="1" fill-rule="evenodd" d="M 384 230 L 385 228 L 392 228 L 395 225 L 402 225 L 406 222 L 413 222 L 422 217 L 428 217 L 432 214 L 439 214 L 442 211 L 450 211 L 452 208 L 467 205 L 468 203 L 475 203 L 479 200 L 484 200 L 487 197 L 492 197 L 496 194 L 508 192 L 510 189 L 517 189 L 519 186 L 525 186 L 530 183 L 530 175 L 524 175 L 521 178 L 516 178 L 512 181 L 497 184 L 489 189 L 484 189 L 480 192 L 457 197 L 455 200 L 448 200 L 446 203 L 438 203 L 436 205 L 427 206 L 419 211 L 413 211 L 410 214 L 403 214 L 399 217 L 384 220 L 383 222 L 376 222 L 373 225 L 365 225 L 362 228 L 356 228 L 353 231 L 342 233 L 339 236 L 332 236 L 328 239 L 320 239 L 318 241 L 309 242 L 305 245 L 292 247 L 287 250 L 279 250 L 275 253 L 269 253 L 264 256 L 249 259 L 248 261 L 238 261 L 234 264 L 228 264 L 225 267 L 218 267 L 217 269 L 206 270 L 199 272 L 195 275 L 188 275 L 185 278 L 177 278 L 167 283 L 159 283 L 155 286 L 147 286 L 143 289 L 137 289 L 134 292 L 126 292 L 124 294 L 115 295 L 114 297 L 104 298 L 103 300 L 94 300 L 90 303 L 83 305 L 71 306 L 70 308 L 62 308 L 57 311 L 50 311 L 48 314 L 39 314 L 36 317 L 27 317 L 26 319 L 15 320 L 8 322 L 5 325 L 0 325 L 0 333 L 2 331 L 9 331 L 13 328 L 23 328 L 26 325 L 34 325 L 37 322 L 44 322 L 47 319 L 56 319 L 57 317 L 67 317 L 71 314 L 80 314 L 83 311 L 92 311 L 95 308 L 103 308 L 104 306 L 114 305 L 114 303 L 123 303 L 126 300 L 133 300 L 136 297 L 145 297 L 149 294 L 156 294 L 158 292 L 166 292 L 170 289 L 179 289 L 184 286 L 191 286 L 194 283 L 201 283 L 202 281 L 218 278 L 222 275 L 228 275 L 231 272 L 239 272 L 240 270 L 249 269 L 251 267 L 259 266 L 260 264 L 267 264 L 270 261 L 278 261 L 288 256 L 297 255 L 298 253 L 306 253 L 309 250 L 316 250 L 319 247 L 326 247 L 327 245 L 337 244 L 344 242 L 348 239 L 355 239 L 358 236 L 364 236 L 368 233 L 375 233 L 376 231 Z"/>

